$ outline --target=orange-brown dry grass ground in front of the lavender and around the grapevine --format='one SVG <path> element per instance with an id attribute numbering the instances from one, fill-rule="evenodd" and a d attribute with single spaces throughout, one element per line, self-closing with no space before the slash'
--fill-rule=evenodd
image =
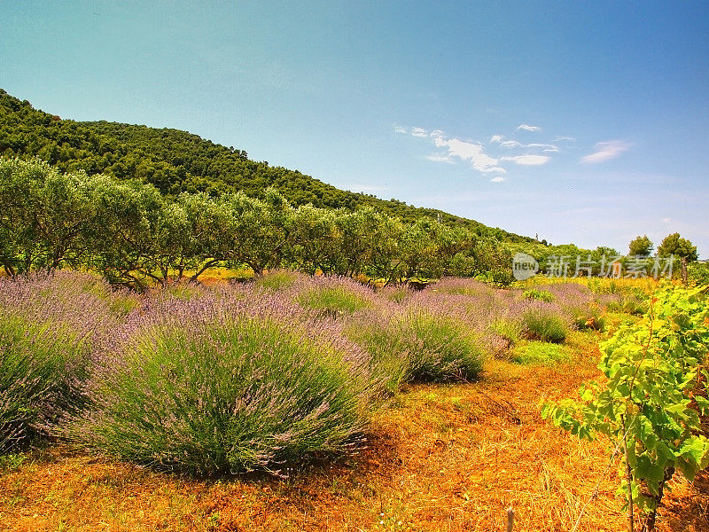
<path id="1" fill-rule="evenodd" d="M 588 340 L 588 339 L 587 339 Z M 374 414 L 366 448 L 288 480 L 196 481 L 66 447 L 0 474 L 0 531 L 625 529 L 603 442 L 580 442 L 539 415 L 542 396 L 596 376 L 596 348 L 557 367 L 491 361 L 479 382 L 409 387 Z M 658 529 L 709 530 L 709 478 L 674 481 Z"/>

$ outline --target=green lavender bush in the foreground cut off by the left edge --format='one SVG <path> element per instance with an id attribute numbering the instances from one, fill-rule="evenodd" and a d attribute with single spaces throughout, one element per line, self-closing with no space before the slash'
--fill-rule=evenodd
<path id="1" fill-rule="evenodd" d="M 0 309 L 0 450 L 26 446 L 79 411 L 88 373 L 88 342 L 68 325 Z"/>

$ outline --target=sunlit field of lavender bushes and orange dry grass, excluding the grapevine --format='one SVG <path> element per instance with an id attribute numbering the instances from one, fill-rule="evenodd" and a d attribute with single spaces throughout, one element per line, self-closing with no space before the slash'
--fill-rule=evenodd
<path id="1" fill-rule="evenodd" d="M 601 376 L 654 281 L 233 277 L 0 278 L 0 530 L 626 526 L 609 442 L 540 403 Z M 707 493 L 676 474 L 658 529 L 709 529 Z"/>

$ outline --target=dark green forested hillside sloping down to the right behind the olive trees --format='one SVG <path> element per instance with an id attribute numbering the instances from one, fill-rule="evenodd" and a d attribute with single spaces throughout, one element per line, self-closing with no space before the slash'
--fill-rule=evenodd
<path id="1" fill-rule="evenodd" d="M 398 200 L 380 200 L 369 194 L 339 190 L 298 170 L 271 167 L 249 160 L 233 147 L 214 144 L 178 129 L 155 129 L 108 121 L 79 122 L 36 110 L 0 89 L 0 154 L 38 156 L 61 171 L 82 169 L 120 179 L 138 178 L 160 192 L 206 191 L 213 195 L 243 191 L 261 198 L 275 187 L 292 205 L 354 209 L 372 206 L 411 222 L 421 216 L 464 225 L 479 235 L 510 241 L 528 241 L 482 223 Z"/>

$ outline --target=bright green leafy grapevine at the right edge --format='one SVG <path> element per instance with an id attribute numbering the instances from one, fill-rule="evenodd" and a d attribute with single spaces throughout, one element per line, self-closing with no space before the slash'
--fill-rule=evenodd
<path id="1" fill-rule="evenodd" d="M 601 343 L 603 384 L 588 383 L 580 400 L 542 405 L 542 416 L 588 440 L 604 434 L 622 457 L 619 493 L 628 529 L 634 507 L 643 532 L 655 526 L 658 505 L 675 471 L 692 481 L 709 465 L 707 350 L 709 287 L 664 284 L 648 312 Z"/>

